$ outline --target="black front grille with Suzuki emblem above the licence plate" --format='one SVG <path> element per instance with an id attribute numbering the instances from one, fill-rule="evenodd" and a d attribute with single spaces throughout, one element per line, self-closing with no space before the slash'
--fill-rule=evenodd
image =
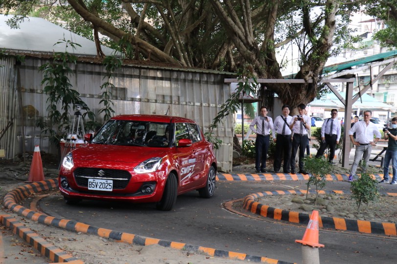
<path id="1" fill-rule="evenodd" d="M 99 169 L 99 168 L 77 168 L 74 180 L 81 187 L 88 186 L 88 178 L 106 179 L 113 181 L 113 189 L 125 189 L 131 180 L 131 174 L 126 170 Z"/>

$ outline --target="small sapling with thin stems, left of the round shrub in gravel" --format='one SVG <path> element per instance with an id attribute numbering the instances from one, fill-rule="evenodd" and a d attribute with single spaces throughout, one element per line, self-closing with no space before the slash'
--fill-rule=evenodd
<path id="1" fill-rule="evenodd" d="M 327 174 L 331 173 L 331 164 L 324 157 L 321 158 L 305 158 L 305 169 L 310 173 L 310 177 L 308 180 L 308 188 L 309 191 L 310 185 L 316 186 L 316 199 L 318 196 L 318 192 L 324 188 L 327 181 L 325 179 Z M 306 194 L 306 199 L 308 199 L 308 193 Z"/>

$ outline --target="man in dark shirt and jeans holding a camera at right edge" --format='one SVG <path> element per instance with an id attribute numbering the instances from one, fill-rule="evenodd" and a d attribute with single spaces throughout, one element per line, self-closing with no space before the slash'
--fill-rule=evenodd
<path id="1" fill-rule="evenodd" d="M 390 184 L 397 184 L 397 117 L 392 119 L 391 128 L 383 128 L 385 140 L 389 139 L 385 160 L 383 162 L 383 180 L 379 183 L 389 183 L 389 164 L 392 161 L 393 178 Z"/>

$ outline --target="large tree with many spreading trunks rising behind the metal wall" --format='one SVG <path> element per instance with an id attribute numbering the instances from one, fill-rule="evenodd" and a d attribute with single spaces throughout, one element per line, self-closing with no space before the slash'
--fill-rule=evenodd
<path id="1" fill-rule="evenodd" d="M 12 6 L 10 3 L 14 1 L 21 3 L 11 0 L 5 7 Z M 40 1 L 22 3 L 14 8 L 27 15 L 29 6 Z M 285 61 L 278 60 L 277 53 L 293 43 L 299 47 L 296 57 L 300 66 L 293 78 L 314 82 L 267 83 L 261 85 L 260 92 L 263 100 L 265 91 L 277 93 L 292 108 L 311 102 L 316 96 L 317 81 L 327 59 L 350 42 L 347 24 L 356 9 L 352 2 L 340 0 L 61 0 L 59 3 L 61 7 L 57 9 L 47 6 L 40 10 L 53 20 L 64 14 L 62 19 L 69 18 L 66 21 L 71 30 L 91 36 L 97 42 L 98 33 L 107 36 L 112 47 L 121 47 L 134 59 L 234 72 L 250 64 L 257 78 L 283 79 Z M 60 12 L 60 8 L 64 11 Z"/>

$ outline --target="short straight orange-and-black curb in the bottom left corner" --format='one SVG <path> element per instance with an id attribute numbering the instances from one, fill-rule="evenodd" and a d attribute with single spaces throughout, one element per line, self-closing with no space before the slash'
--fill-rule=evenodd
<path id="1" fill-rule="evenodd" d="M 43 256 L 56 263 L 67 262 L 70 264 L 84 264 L 83 261 L 69 255 L 53 244 L 48 243 L 37 233 L 33 232 L 10 215 L 0 215 L 0 223 L 12 230 L 12 232 L 27 243 L 36 248 Z"/>

